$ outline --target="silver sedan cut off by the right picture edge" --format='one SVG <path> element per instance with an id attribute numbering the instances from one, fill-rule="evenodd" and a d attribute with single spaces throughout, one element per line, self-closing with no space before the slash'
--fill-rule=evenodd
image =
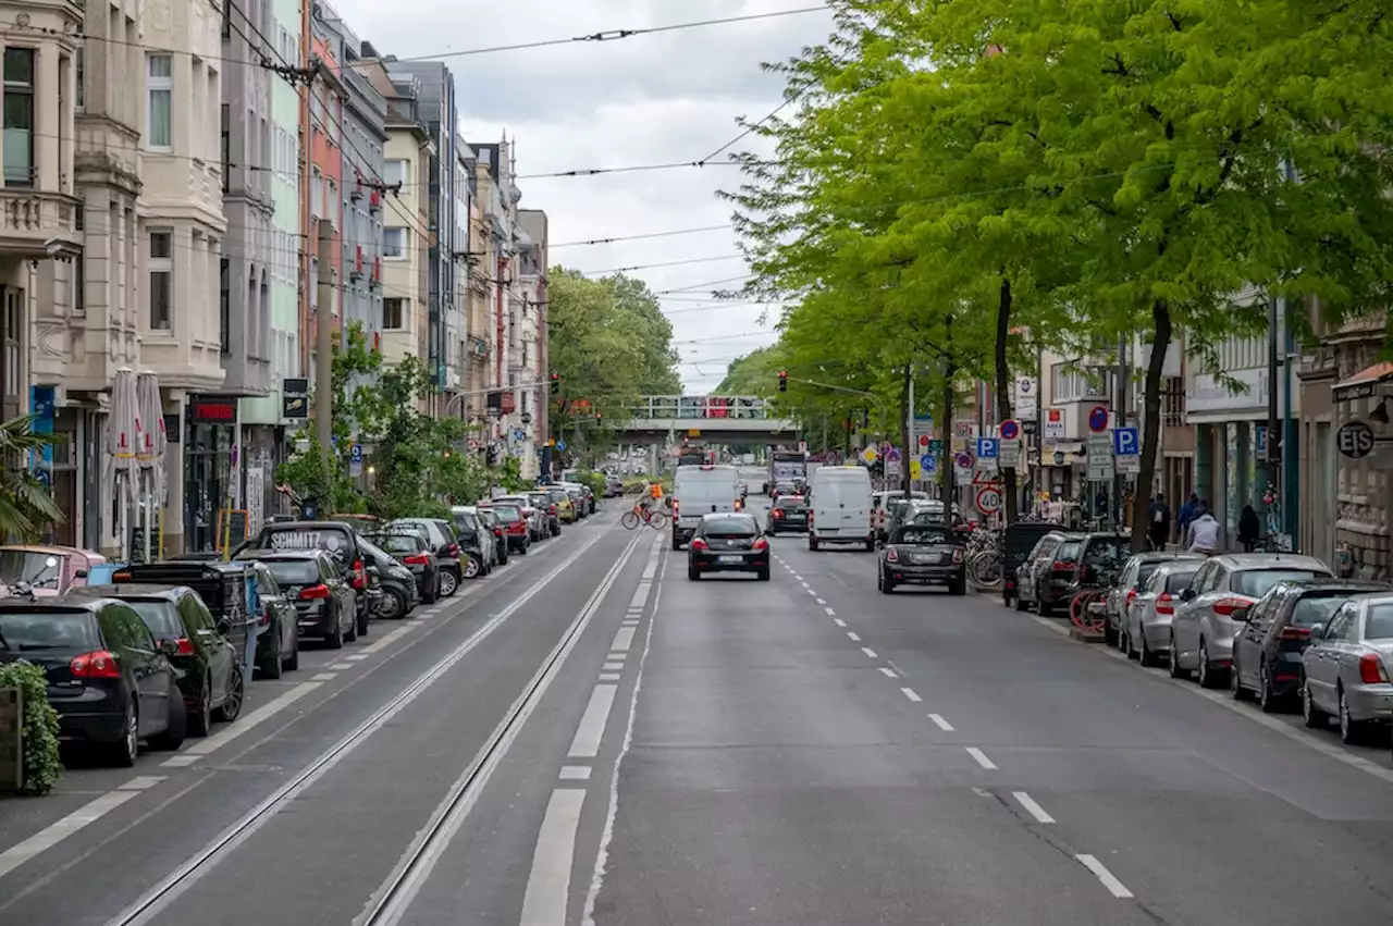
<path id="1" fill-rule="evenodd" d="M 1311 628 L 1311 646 L 1301 654 L 1305 682 L 1301 713 L 1307 727 L 1340 720 L 1340 739 L 1354 745 L 1372 727 L 1393 720 L 1393 595 L 1376 592 L 1350 599 L 1329 624 Z"/>

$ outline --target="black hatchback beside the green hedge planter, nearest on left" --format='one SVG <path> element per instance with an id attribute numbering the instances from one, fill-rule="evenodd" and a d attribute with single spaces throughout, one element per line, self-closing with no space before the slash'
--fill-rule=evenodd
<path id="1" fill-rule="evenodd" d="M 92 745 L 113 764 L 135 764 L 139 741 L 178 749 L 188 713 L 170 656 L 130 604 L 117 599 L 0 603 L 0 663 L 26 660 L 49 677 L 64 742 Z"/>

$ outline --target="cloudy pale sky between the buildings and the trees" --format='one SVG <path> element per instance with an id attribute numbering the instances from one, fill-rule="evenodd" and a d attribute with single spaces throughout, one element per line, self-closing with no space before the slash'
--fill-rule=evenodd
<path id="1" fill-rule="evenodd" d="M 761 64 L 822 42 L 823 10 L 673 29 L 614 42 L 460 54 L 617 29 L 818 7 L 819 0 L 336 0 L 383 54 L 439 56 L 454 72 L 467 138 L 517 143 L 518 174 L 696 162 L 781 102 L 783 81 Z M 752 139 L 733 150 L 758 150 Z M 717 160 L 723 160 L 724 155 Z M 716 191 L 740 173 L 724 166 L 520 180 L 522 205 L 550 217 L 552 263 L 634 270 L 663 297 L 688 393 L 713 389 L 736 356 L 773 340 L 758 305 L 717 305 L 710 290 L 738 288 L 745 265 Z M 557 246 L 652 233 L 692 234 L 607 245 Z M 734 258 L 734 259 L 727 259 Z M 678 266 L 648 265 L 687 260 Z M 720 281 L 720 283 L 716 283 Z"/>

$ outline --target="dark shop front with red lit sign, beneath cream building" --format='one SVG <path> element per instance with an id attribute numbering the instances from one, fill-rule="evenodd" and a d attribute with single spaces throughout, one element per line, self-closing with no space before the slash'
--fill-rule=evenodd
<path id="1" fill-rule="evenodd" d="M 219 549 L 219 512 L 240 500 L 235 395 L 189 395 L 184 429 L 184 550 Z"/>

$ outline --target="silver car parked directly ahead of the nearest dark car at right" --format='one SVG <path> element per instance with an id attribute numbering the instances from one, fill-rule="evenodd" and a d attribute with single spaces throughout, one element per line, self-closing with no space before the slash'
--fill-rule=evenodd
<path id="1" fill-rule="evenodd" d="M 1234 611 L 1247 609 L 1283 579 L 1334 578 L 1321 560 L 1291 553 L 1226 553 L 1209 557 L 1181 596 L 1170 622 L 1170 675 L 1199 675 L 1205 688 L 1229 681 Z"/>

